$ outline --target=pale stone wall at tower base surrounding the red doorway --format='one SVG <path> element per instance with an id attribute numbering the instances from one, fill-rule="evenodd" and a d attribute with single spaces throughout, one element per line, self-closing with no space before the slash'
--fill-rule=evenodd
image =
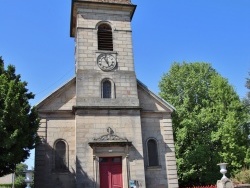
<path id="1" fill-rule="evenodd" d="M 76 114 L 76 155 L 77 155 L 77 187 L 93 186 L 95 172 L 93 171 L 93 149 L 88 145 L 93 138 L 107 134 L 111 127 L 120 137 L 132 141 L 133 147 L 129 152 L 130 178 L 138 180 L 145 187 L 143 150 L 141 140 L 141 124 L 139 110 L 77 110 Z M 110 148 L 104 148 L 100 156 L 116 156 L 110 153 Z M 125 155 L 125 153 L 124 153 Z M 125 156 L 122 156 L 123 158 Z M 123 179 L 126 179 L 126 173 Z M 84 177 L 81 178 L 80 177 Z M 124 182 L 124 187 L 127 182 Z"/>

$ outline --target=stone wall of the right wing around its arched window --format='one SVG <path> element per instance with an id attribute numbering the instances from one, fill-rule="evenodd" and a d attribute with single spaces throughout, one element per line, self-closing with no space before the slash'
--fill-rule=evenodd
<path id="1" fill-rule="evenodd" d="M 167 113 L 142 112 L 142 138 L 144 146 L 144 164 L 146 187 L 177 188 L 177 169 L 172 132 L 171 116 Z M 159 165 L 148 166 L 147 140 L 154 138 L 158 143 Z"/>

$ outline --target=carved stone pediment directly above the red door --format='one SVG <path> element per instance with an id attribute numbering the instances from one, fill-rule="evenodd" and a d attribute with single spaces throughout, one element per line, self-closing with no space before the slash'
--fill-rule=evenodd
<path id="1" fill-rule="evenodd" d="M 107 128 L 108 134 L 104 134 L 98 138 L 93 138 L 93 142 L 89 142 L 91 147 L 107 147 L 107 146 L 126 146 L 132 145 L 132 142 L 128 141 L 127 138 L 120 137 L 114 134 L 112 128 Z"/>

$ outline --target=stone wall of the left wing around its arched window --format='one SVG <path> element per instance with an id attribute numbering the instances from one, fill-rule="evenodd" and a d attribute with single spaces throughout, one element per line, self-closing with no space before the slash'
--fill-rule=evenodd
<path id="1" fill-rule="evenodd" d="M 35 150 L 35 186 L 47 188 L 73 188 L 75 185 L 75 119 L 72 114 L 40 114 L 38 130 L 42 143 Z M 66 143 L 68 171 L 55 171 L 55 148 L 57 140 Z"/>

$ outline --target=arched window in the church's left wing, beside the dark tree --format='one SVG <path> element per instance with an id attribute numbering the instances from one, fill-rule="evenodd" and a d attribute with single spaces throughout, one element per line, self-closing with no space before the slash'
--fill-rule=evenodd
<path id="1" fill-rule="evenodd" d="M 67 170 L 67 150 L 64 141 L 59 140 L 55 144 L 55 170 L 65 171 Z"/>

